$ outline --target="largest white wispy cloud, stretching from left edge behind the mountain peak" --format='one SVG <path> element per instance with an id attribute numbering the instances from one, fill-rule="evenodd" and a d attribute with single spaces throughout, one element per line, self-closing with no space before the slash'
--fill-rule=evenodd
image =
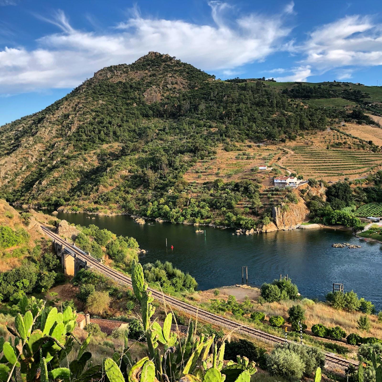
<path id="1" fill-rule="evenodd" d="M 150 50 L 169 53 L 202 70 L 233 73 L 282 49 L 291 32 L 283 21 L 293 10 L 291 4 L 272 16 L 253 13 L 232 19 L 227 17 L 232 6 L 214 1 L 209 3 L 213 23 L 205 25 L 147 18 L 134 11 L 107 33 L 76 29 L 62 11 L 52 18 L 36 15 L 60 32 L 42 36 L 34 50 L 0 51 L 0 91 L 74 87 L 104 66 L 131 63 Z"/>

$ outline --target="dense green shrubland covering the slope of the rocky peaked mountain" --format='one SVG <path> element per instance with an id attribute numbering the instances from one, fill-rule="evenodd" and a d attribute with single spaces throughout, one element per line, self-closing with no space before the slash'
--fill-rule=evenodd
<path id="1" fill-rule="evenodd" d="M 135 77 L 131 73 L 136 71 L 151 75 Z M 108 79 L 118 75 L 123 79 Z M 28 164 L 28 174 L 9 174 L 0 194 L 41 207 L 112 209 L 172 222 L 208 223 L 218 211 L 217 219 L 229 225 L 254 227 L 256 213 L 241 216 L 235 211 L 246 194 L 256 199 L 253 190 L 228 184 L 193 200 L 193 185 L 183 174 L 197 160 L 215 155 L 220 144 L 228 149 L 231 141 L 295 139 L 304 131 L 324 129 L 326 112 L 291 101 L 262 81 L 211 80 L 191 65 L 163 56 L 105 68 L 42 112 L 3 127 L 0 155 L 17 151 L 31 135 L 33 144 L 44 144 L 40 154 L 45 160 Z M 142 95 L 146 90 L 159 93 L 156 102 Z M 81 107 L 67 107 L 73 104 Z M 58 116 L 56 111 L 64 107 Z M 55 136 L 44 141 L 36 134 L 41 128 L 54 128 Z M 223 195 L 227 201 L 220 205 Z M 233 216 L 226 217 L 228 213 Z"/>

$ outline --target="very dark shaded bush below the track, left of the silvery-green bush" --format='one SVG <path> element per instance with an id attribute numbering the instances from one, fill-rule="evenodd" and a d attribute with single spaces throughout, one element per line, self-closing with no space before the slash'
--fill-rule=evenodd
<path id="1" fill-rule="evenodd" d="M 260 367 L 266 365 L 265 348 L 255 345 L 248 340 L 239 339 L 238 341 L 225 342 L 224 359 L 234 361 L 236 356 L 247 357 L 249 361 L 254 361 Z"/>

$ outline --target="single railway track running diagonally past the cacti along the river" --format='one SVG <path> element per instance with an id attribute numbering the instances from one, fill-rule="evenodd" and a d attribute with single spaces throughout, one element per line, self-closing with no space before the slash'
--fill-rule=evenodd
<path id="1" fill-rule="evenodd" d="M 116 282 L 122 285 L 129 285 L 131 287 L 133 286 L 133 283 L 130 277 L 100 263 L 99 261 L 94 259 L 94 257 L 86 254 L 85 252 L 81 251 L 74 245 L 63 240 L 60 236 L 53 233 L 48 228 L 44 226 L 41 226 L 41 228 L 47 236 L 57 241 L 58 243 L 62 244 L 65 248 L 69 250 L 69 252 L 72 255 L 75 254 L 75 256 L 78 256 L 79 258 L 86 261 L 89 267 L 96 269 L 98 272 L 104 274 L 107 277 L 112 278 L 113 280 L 115 280 Z M 197 317 L 198 319 L 202 321 L 210 322 L 214 325 L 225 327 L 228 330 L 235 330 L 249 337 L 256 338 L 258 340 L 265 341 L 268 343 L 280 343 L 280 344 L 285 343 L 284 338 L 277 337 L 273 334 L 265 333 L 253 327 L 242 325 L 228 318 L 218 316 L 214 313 L 199 309 L 196 306 L 180 301 L 172 296 L 163 295 L 163 293 L 155 289 L 152 289 L 152 288 L 147 288 L 147 289 L 151 291 L 152 296 L 155 299 L 165 302 L 166 304 L 172 306 L 176 310 L 183 311 L 191 316 Z M 293 342 L 293 341 L 287 340 L 287 342 Z M 349 364 L 353 364 L 353 366 L 358 366 L 358 362 L 354 361 L 353 359 L 344 359 L 344 358 L 338 357 L 337 354 L 334 354 L 334 353 L 325 353 L 325 361 L 335 364 L 336 366 L 340 366 L 342 368 L 348 367 Z"/>

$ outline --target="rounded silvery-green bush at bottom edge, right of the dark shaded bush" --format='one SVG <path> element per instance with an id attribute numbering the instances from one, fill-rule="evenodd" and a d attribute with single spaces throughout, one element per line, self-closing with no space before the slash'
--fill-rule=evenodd
<path id="1" fill-rule="evenodd" d="M 283 377 L 291 382 L 301 379 L 305 370 L 303 360 L 287 348 L 274 348 L 267 354 L 266 364 L 271 375 Z"/>

